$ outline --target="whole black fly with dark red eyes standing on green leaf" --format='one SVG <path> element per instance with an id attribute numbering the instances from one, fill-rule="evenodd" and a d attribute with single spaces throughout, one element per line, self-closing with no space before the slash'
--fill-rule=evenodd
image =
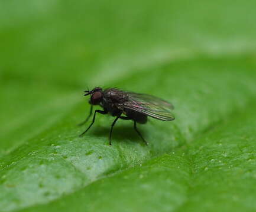
<path id="1" fill-rule="evenodd" d="M 111 145 L 112 130 L 118 118 L 121 118 L 122 120 L 133 120 L 134 130 L 138 133 L 138 135 L 140 135 L 145 144 L 148 143 L 144 140 L 140 131 L 138 131 L 136 125 L 137 122 L 140 124 L 145 124 L 147 122 L 148 116 L 162 121 L 174 120 L 174 116 L 171 114 L 173 105 L 167 101 L 161 100 L 158 97 L 154 97 L 153 95 L 121 91 L 116 88 L 108 88 L 106 90 L 102 90 L 102 88 L 99 87 L 85 92 L 85 96 L 90 95 L 90 114 L 86 120 L 79 125 L 83 125 L 89 120 L 90 116 L 92 115 L 93 105 L 100 105 L 103 110 L 94 111 L 92 123 L 89 125 L 86 131 L 80 134 L 80 136 L 85 134 L 89 128 L 92 127 L 97 112 L 101 114 L 110 113 L 116 117 L 111 125 L 109 145 Z M 124 114 L 124 116 L 122 114 Z"/>

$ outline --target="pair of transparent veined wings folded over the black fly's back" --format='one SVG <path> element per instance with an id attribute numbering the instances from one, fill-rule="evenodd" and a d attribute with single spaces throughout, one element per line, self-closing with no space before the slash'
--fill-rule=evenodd
<path id="1" fill-rule="evenodd" d="M 163 121 L 175 119 L 174 115 L 171 114 L 171 110 L 174 107 L 169 102 L 148 94 L 137 94 L 134 92 L 125 92 L 125 94 L 127 94 L 128 101 L 119 103 L 118 108 L 129 108 Z"/>

